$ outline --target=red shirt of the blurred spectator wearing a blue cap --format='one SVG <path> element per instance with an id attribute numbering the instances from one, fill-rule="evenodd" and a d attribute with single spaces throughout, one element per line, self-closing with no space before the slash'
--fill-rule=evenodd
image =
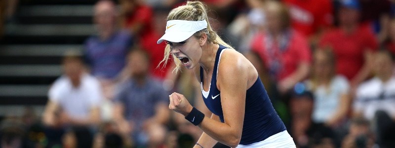
<path id="1" fill-rule="evenodd" d="M 319 46 L 333 49 L 337 74 L 351 80 L 364 64 L 364 51 L 376 50 L 378 43 L 373 31 L 366 25 L 358 27 L 352 34 L 346 34 L 339 28 L 329 31 L 322 36 Z"/>

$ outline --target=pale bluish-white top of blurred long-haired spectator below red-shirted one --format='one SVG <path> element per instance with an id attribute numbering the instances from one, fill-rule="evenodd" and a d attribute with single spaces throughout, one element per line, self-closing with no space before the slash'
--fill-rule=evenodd
<path id="1" fill-rule="evenodd" d="M 312 82 L 307 81 L 307 87 L 312 88 Z M 339 109 L 341 96 L 347 94 L 350 85 L 346 77 L 336 75 L 332 78 L 329 87 L 324 85 L 317 86 L 313 92 L 315 97 L 313 121 L 322 123 L 329 120 L 330 117 Z"/>

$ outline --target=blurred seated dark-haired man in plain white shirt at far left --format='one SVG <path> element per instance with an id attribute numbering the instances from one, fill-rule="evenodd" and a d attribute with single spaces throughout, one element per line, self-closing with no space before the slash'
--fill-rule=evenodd
<path id="1" fill-rule="evenodd" d="M 100 122 L 99 106 L 103 95 L 99 81 L 84 73 L 80 55 L 67 52 L 63 58 L 64 75 L 59 77 L 48 92 L 48 103 L 42 121 L 48 127 L 48 136 L 60 142 L 65 129 L 72 128 L 77 136 L 78 148 L 92 145 L 91 128 Z M 54 133 L 60 128 L 60 134 Z"/>

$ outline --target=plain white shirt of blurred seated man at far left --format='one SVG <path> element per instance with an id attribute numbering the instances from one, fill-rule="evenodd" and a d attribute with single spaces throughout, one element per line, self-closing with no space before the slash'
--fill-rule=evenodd
<path id="1" fill-rule="evenodd" d="M 71 80 L 62 75 L 49 89 L 48 97 L 78 119 L 87 118 L 90 110 L 99 107 L 103 99 L 99 81 L 88 74 L 82 75 L 79 87 L 74 87 Z"/>

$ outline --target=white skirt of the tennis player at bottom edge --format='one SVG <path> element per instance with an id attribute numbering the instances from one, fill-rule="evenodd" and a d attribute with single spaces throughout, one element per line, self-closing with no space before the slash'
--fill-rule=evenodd
<path id="1" fill-rule="evenodd" d="M 236 148 L 296 148 L 296 145 L 291 135 L 285 130 L 270 136 L 264 141 L 250 145 L 238 145 Z"/>

